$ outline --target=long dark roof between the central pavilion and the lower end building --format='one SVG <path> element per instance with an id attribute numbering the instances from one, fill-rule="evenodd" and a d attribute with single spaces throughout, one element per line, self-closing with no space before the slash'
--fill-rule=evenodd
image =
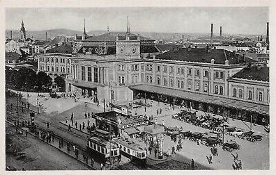
<path id="1" fill-rule="evenodd" d="M 207 49 L 203 48 L 190 48 L 190 51 L 186 48 L 180 48 L 177 50 L 171 50 L 166 53 L 162 53 L 156 56 L 156 59 L 160 60 L 179 60 L 197 63 L 211 63 L 211 60 L 215 60 L 215 64 L 225 65 L 225 60 L 229 60 L 229 65 L 235 65 L 239 63 L 252 63 L 256 62 L 250 58 L 226 51 L 224 49 Z"/>

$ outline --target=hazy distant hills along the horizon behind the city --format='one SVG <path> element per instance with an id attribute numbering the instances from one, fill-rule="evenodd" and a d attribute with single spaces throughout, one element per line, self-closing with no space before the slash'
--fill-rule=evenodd
<path id="1" fill-rule="evenodd" d="M 20 31 L 19 30 L 12 30 L 13 31 L 13 38 L 19 39 L 20 38 Z M 27 31 L 27 38 L 31 38 L 33 36 L 36 40 L 45 39 L 45 33 L 47 32 L 48 38 L 55 38 L 57 35 L 66 35 L 66 36 L 75 36 L 82 35 L 82 31 L 73 31 L 68 29 L 52 29 L 52 30 L 44 30 L 44 31 Z M 107 31 L 89 31 L 87 32 L 88 35 L 100 35 L 102 33 L 106 33 Z M 114 31 L 116 32 L 116 31 Z M 139 33 L 140 35 L 145 36 L 146 38 L 151 38 L 154 40 L 180 40 L 182 35 L 184 39 L 187 40 L 196 40 L 196 39 L 203 39 L 208 40 L 210 39 L 210 33 L 155 33 L 155 32 L 133 32 Z M 215 34 L 215 39 L 218 39 L 220 36 Z M 251 38 L 256 39 L 257 35 L 243 35 L 243 34 L 223 34 L 224 39 L 230 38 Z M 6 38 L 10 38 L 10 30 L 6 30 Z"/>

